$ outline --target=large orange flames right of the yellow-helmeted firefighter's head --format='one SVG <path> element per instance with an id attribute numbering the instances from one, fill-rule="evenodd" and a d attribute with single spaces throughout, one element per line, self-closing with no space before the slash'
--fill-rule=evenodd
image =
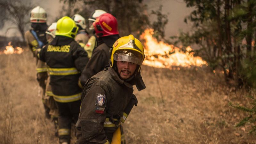
<path id="1" fill-rule="evenodd" d="M 162 41 L 158 42 L 152 35 L 153 29 L 146 29 L 140 39 L 144 39 L 145 55 L 146 58 L 143 62 L 144 65 L 153 66 L 157 68 L 171 68 L 172 66 L 202 67 L 207 65 L 207 62 L 202 60 L 201 57 L 194 57 L 193 49 L 188 46 L 186 52 L 174 45 L 166 44 Z"/>

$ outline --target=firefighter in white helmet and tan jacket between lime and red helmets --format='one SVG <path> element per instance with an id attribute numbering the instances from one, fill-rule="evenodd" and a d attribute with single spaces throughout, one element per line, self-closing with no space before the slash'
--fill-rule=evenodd
<path id="1" fill-rule="evenodd" d="M 78 32 L 76 34 L 75 41 L 81 45 L 81 47 L 84 47 L 85 44 L 88 42 L 89 35 L 88 32 L 85 30 L 86 23 L 84 17 L 82 17 L 79 14 L 75 14 L 72 19 L 76 22 L 76 25 L 78 27 Z"/>

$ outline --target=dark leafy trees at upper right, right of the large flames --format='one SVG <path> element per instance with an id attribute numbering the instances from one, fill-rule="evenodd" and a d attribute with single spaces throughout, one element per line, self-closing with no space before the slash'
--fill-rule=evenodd
<path id="1" fill-rule="evenodd" d="M 213 69 L 222 68 L 229 84 L 255 85 L 250 82 L 253 75 L 246 74 L 244 68 L 255 64 L 256 1 L 184 1 L 187 7 L 195 8 L 184 20 L 186 23 L 190 20 L 193 28 L 189 32 L 181 32 L 180 36 L 172 36 L 175 39 L 173 43 L 181 42 L 184 47 L 197 44 L 197 53 Z"/>

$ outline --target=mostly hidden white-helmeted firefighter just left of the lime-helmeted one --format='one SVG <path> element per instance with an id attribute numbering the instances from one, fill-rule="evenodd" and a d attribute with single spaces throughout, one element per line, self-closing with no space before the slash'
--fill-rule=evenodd
<path id="1" fill-rule="evenodd" d="M 46 39 L 48 44 L 52 42 L 55 38 L 55 32 L 57 28 L 57 22 L 52 23 L 46 30 Z M 55 128 L 55 136 L 58 136 L 58 108 L 56 106 L 55 100 L 53 99 L 52 87 L 50 85 L 50 76 L 48 73 L 46 92 L 45 92 L 45 104 L 50 108 L 49 114 L 51 115 L 52 122 Z"/>

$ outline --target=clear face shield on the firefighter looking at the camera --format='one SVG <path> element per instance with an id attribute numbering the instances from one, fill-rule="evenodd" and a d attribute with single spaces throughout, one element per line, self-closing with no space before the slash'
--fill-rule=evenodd
<path id="1" fill-rule="evenodd" d="M 142 65 L 142 55 L 139 52 L 120 50 L 113 55 L 114 60 L 116 61 L 127 61 L 135 63 L 137 65 Z"/>

